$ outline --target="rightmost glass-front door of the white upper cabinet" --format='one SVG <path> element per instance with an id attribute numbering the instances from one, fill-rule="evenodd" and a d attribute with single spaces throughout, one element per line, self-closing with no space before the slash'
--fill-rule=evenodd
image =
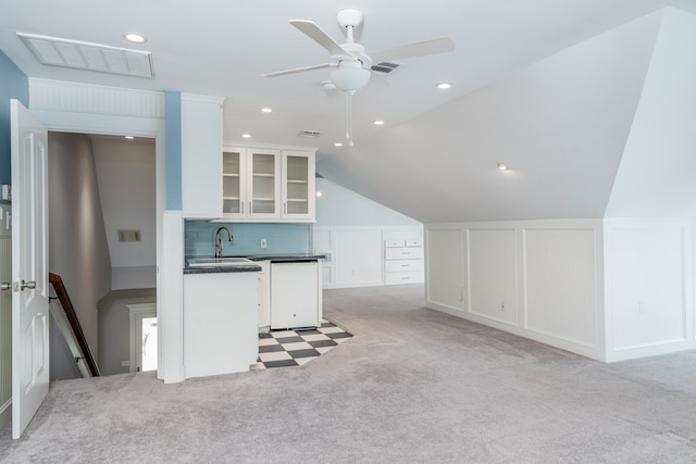
<path id="1" fill-rule="evenodd" d="M 283 217 L 314 220 L 314 153 L 283 150 Z"/>

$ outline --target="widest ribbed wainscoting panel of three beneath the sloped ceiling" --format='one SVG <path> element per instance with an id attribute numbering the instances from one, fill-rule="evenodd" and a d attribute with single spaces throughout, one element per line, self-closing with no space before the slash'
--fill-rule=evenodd
<path id="1" fill-rule="evenodd" d="M 523 229 L 524 328 L 597 346 L 597 241 L 593 228 Z"/>

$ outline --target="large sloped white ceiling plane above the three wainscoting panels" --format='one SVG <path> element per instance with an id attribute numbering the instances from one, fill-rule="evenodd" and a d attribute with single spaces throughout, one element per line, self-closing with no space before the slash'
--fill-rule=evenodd
<path id="1" fill-rule="evenodd" d="M 539 61 L 318 171 L 423 223 L 601 217 L 662 16 Z"/>

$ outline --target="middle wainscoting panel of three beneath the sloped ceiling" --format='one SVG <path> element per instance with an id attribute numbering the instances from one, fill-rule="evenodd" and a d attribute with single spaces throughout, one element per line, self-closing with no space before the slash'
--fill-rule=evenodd
<path id="1" fill-rule="evenodd" d="M 515 325 L 518 322 L 514 228 L 469 229 L 469 312 Z"/>

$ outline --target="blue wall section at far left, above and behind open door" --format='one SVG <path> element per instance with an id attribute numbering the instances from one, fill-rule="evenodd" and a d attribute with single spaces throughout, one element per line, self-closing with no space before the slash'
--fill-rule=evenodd
<path id="1" fill-rule="evenodd" d="M 10 99 L 29 106 L 29 80 L 0 50 L 0 184 L 10 184 Z"/>

